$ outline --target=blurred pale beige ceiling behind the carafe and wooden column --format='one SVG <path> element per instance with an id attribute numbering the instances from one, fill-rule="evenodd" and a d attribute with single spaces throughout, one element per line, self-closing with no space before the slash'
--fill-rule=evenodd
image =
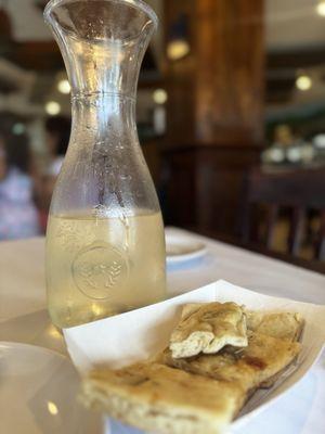
<path id="1" fill-rule="evenodd" d="M 164 0 L 146 0 L 162 17 Z M 41 5 L 46 0 L 8 0 L 4 8 L 13 22 L 17 41 L 49 41 L 51 33 L 44 25 Z M 270 50 L 324 46 L 325 18 L 315 11 L 316 0 L 266 0 L 266 44 Z"/>

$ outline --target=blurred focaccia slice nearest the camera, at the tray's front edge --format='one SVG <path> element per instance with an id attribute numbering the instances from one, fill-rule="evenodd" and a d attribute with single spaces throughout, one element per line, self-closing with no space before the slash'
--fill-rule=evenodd
<path id="1" fill-rule="evenodd" d="M 81 398 L 88 407 L 148 432 L 218 434 L 238 413 L 246 395 L 227 381 L 143 362 L 91 372 Z"/>

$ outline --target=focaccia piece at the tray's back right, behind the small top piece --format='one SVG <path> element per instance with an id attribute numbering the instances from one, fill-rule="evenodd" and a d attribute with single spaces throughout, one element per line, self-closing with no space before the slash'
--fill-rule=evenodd
<path id="1" fill-rule="evenodd" d="M 304 320 L 300 314 L 247 311 L 247 329 L 269 336 L 296 342 L 300 337 L 303 326 Z"/>

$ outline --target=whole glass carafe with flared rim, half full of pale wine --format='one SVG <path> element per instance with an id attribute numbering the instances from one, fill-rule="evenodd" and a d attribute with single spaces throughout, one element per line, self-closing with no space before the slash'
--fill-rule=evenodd
<path id="1" fill-rule="evenodd" d="M 165 235 L 139 145 L 135 93 L 157 25 L 140 0 L 52 0 L 73 127 L 47 231 L 53 322 L 68 328 L 165 297 Z"/>

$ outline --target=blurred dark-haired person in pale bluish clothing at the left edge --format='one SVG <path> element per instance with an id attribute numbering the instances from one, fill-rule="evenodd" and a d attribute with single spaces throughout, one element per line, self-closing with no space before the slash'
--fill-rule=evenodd
<path id="1" fill-rule="evenodd" d="M 10 128 L 0 128 L 0 240 L 40 233 L 30 156 L 26 135 L 14 136 Z"/>

